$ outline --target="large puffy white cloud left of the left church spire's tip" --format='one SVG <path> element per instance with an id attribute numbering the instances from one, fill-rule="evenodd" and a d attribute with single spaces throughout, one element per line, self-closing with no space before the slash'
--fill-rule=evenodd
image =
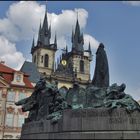
<path id="1" fill-rule="evenodd" d="M 0 19 L 0 33 L 10 41 L 30 40 L 44 18 L 45 6 L 37 2 L 15 2 L 8 11 L 7 17 Z"/>

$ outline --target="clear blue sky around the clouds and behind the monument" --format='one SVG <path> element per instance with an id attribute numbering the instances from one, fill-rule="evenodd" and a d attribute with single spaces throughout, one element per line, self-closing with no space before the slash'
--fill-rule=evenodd
<path id="1" fill-rule="evenodd" d="M 6 17 L 6 12 L 13 3 L 15 2 L 0 1 L 0 20 Z M 42 5 L 46 2 L 38 3 Z M 126 93 L 137 100 L 140 99 L 140 5 L 134 6 L 122 1 L 48 1 L 49 13 L 60 14 L 62 10 L 75 8 L 82 8 L 88 12 L 84 33 L 90 34 L 105 45 L 110 84 L 126 83 Z M 3 32 L 0 32 L 0 35 L 4 36 Z M 31 59 L 31 42 L 31 39 L 13 41 L 17 51 L 22 52 L 26 59 Z M 93 49 L 92 76 L 95 52 L 96 49 Z"/>

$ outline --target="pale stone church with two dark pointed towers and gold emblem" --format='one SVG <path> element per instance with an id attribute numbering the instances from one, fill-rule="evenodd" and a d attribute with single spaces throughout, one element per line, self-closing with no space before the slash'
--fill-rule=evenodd
<path id="1" fill-rule="evenodd" d="M 58 81 L 59 88 L 69 88 L 73 81 L 79 82 L 81 86 L 86 86 L 90 82 L 90 61 L 92 52 L 89 43 L 88 50 L 84 50 L 84 38 L 80 32 L 77 19 L 75 32 L 72 31 L 72 49 L 63 50 L 60 59 L 55 62 L 57 51 L 57 37 L 55 34 L 54 43 L 50 43 L 51 26 L 48 26 L 47 11 L 43 25 L 39 27 L 38 40 L 35 45 L 34 39 L 31 48 L 32 62 L 37 66 L 40 73 Z"/>

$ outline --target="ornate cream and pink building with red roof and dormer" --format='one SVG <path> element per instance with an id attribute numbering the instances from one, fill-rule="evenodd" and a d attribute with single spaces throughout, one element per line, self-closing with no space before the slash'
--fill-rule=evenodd
<path id="1" fill-rule="evenodd" d="M 0 63 L 0 139 L 20 138 L 21 127 L 28 113 L 15 102 L 33 92 L 28 75 Z"/>

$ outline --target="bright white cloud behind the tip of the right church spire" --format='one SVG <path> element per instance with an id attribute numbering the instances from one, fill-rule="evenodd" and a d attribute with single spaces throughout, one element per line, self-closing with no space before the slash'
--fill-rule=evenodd
<path id="1" fill-rule="evenodd" d="M 88 12 L 85 9 L 62 10 L 62 13 L 59 15 L 49 14 L 52 29 L 57 31 L 58 37 L 71 35 L 72 29 L 75 29 L 77 12 L 80 27 L 83 29 L 86 26 L 88 17 Z"/>

